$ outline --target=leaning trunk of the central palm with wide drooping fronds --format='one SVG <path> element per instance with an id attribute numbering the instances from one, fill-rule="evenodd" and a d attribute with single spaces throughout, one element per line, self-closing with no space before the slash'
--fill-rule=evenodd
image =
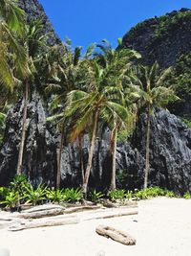
<path id="1" fill-rule="evenodd" d="M 88 164 L 86 167 L 86 172 L 85 172 L 84 181 L 82 185 L 82 192 L 85 198 L 87 196 L 88 181 L 89 181 L 90 171 L 92 167 L 93 153 L 95 150 L 97 120 L 98 120 L 98 109 L 96 109 L 96 113 L 95 113 L 95 122 L 94 122 L 93 135 L 92 135 L 90 151 L 88 156 Z"/>

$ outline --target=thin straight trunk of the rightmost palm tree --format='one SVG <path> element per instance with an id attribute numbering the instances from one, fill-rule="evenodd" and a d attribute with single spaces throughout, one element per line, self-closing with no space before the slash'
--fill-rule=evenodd
<path id="1" fill-rule="evenodd" d="M 146 121 L 146 159 L 145 159 L 145 174 L 144 174 L 144 188 L 148 185 L 149 175 L 149 151 L 150 151 L 150 105 L 148 106 L 147 121 Z"/>

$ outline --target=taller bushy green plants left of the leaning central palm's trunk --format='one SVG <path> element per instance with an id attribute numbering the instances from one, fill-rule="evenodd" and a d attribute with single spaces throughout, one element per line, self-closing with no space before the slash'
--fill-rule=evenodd
<path id="1" fill-rule="evenodd" d="M 21 204 L 32 205 L 52 201 L 75 203 L 82 199 L 80 189 L 49 189 L 43 184 L 33 188 L 25 175 L 15 175 L 8 188 L 0 188 L 0 205 L 9 208 L 19 208 Z"/>

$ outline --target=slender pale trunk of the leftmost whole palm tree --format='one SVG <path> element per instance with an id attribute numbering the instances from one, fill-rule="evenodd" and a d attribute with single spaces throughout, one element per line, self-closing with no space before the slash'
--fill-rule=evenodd
<path id="1" fill-rule="evenodd" d="M 23 107 L 23 124 L 22 124 L 21 143 L 20 143 L 20 147 L 19 147 L 18 162 L 17 162 L 17 169 L 16 169 L 17 175 L 21 175 L 21 173 L 22 173 L 23 151 L 24 151 L 25 138 L 26 138 L 26 127 L 27 127 L 28 98 L 29 98 L 29 84 L 28 84 L 28 81 L 26 81 L 25 88 L 24 88 L 24 107 Z"/>

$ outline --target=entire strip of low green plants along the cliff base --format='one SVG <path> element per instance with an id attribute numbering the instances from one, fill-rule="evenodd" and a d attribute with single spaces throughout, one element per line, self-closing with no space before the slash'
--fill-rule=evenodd
<path id="1" fill-rule="evenodd" d="M 131 190 L 113 190 L 106 194 L 97 192 L 96 190 L 90 191 L 88 199 L 92 202 L 100 203 L 103 198 L 109 198 L 113 202 L 124 203 L 127 200 L 140 200 L 157 197 L 179 198 L 172 191 L 163 190 L 159 187 L 151 187 L 147 189 L 135 191 Z M 32 205 L 41 204 L 45 202 L 53 203 L 76 203 L 80 202 L 83 198 L 82 191 L 77 188 L 66 189 L 50 189 L 39 184 L 36 188 L 27 180 L 25 175 L 15 175 L 13 181 L 8 188 L 0 188 L 0 205 L 7 208 L 19 209 L 21 204 L 31 203 Z M 183 198 L 190 199 L 191 195 L 185 193 Z"/>

